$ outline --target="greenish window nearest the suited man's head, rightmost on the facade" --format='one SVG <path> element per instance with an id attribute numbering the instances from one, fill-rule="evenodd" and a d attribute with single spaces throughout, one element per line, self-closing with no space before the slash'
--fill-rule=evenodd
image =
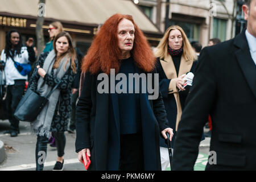
<path id="1" fill-rule="evenodd" d="M 213 18 L 212 38 L 218 38 L 221 41 L 226 40 L 226 20 Z"/>

